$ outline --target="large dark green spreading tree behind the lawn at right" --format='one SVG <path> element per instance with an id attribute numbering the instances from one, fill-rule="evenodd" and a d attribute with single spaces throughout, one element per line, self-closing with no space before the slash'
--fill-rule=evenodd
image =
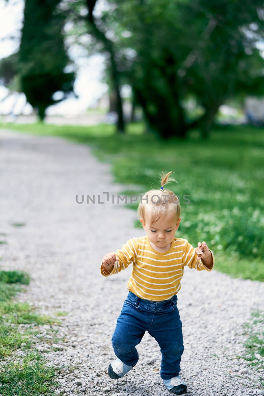
<path id="1" fill-rule="evenodd" d="M 150 128 L 161 137 L 184 137 L 194 126 L 206 137 L 219 106 L 242 86 L 251 92 L 258 83 L 264 93 L 261 59 L 254 49 L 263 37 L 262 2 L 108 3 L 116 6 L 115 31 L 131 32 L 126 40 L 118 36 L 121 49 L 136 53 L 124 63 L 127 78 Z M 204 109 L 197 120 L 188 119 L 184 108 L 190 94 Z"/>

